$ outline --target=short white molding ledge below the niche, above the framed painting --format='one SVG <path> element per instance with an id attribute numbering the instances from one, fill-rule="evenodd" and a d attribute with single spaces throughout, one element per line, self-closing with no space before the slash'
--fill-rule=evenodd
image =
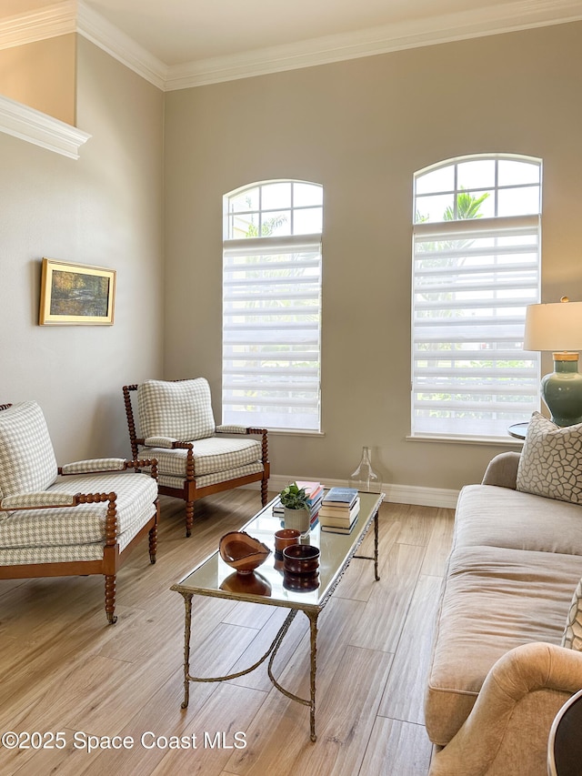
<path id="1" fill-rule="evenodd" d="M 71 159 L 79 158 L 79 148 L 91 137 L 75 126 L 4 96 L 0 96 L 0 132 Z"/>

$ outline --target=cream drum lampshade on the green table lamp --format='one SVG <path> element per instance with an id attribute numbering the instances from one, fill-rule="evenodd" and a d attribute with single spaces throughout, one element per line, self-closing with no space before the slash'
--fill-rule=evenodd
<path id="1" fill-rule="evenodd" d="M 529 305 L 524 350 L 582 350 L 582 302 Z"/>

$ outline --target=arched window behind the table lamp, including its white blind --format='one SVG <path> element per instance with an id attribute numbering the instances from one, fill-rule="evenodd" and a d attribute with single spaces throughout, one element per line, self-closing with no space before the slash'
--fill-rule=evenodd
<path id="1" fill-rule="evenodd" d="M 541 160 L 448 159 L 414 185 L 412 435 L 507 438 L 539 408 Z"/>

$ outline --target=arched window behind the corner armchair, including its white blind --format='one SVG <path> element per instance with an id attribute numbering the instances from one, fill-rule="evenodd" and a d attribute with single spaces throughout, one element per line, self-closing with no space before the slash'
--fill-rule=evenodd
<path id="1" fill-rule="evenodd" d="M 222 422 L 320 430 L 323 187 L 224 197 Z"/>

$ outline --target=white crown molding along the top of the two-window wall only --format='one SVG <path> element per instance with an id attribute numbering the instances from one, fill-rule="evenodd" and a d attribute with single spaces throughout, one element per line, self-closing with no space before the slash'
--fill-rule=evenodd
<path id="1" fill-rule="evenodd" d="M 499 35 L 582 19 L 582 0 L 517 0 L 458 14 L 357 30 L 345 35 L 270 46 L 240 55 L 168 67 L 166 91 L 327 65 L 406 48 Z"/>

